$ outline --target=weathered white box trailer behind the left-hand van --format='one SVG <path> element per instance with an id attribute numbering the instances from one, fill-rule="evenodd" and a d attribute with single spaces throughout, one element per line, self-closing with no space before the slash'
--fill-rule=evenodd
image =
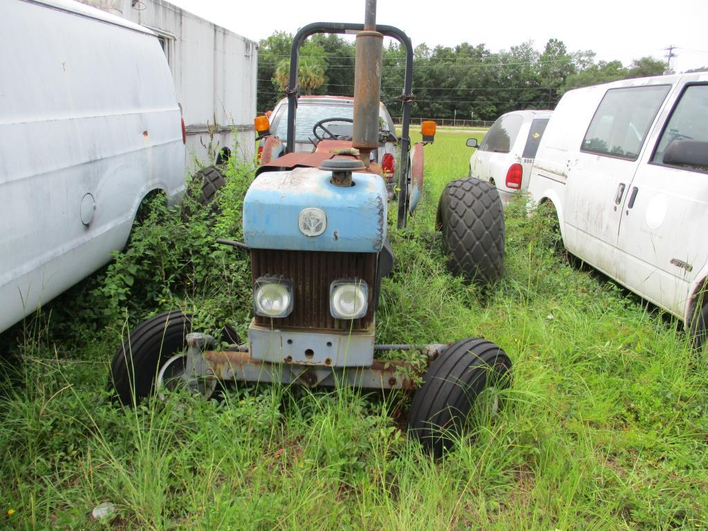
<path id="1" fill-rule="evenodd" d="M 187 128 L 187 166 L 214 164 L 222 147 L 253 156 L 256 42 L 163 0 L 79 0 L 159 36 Z"/>

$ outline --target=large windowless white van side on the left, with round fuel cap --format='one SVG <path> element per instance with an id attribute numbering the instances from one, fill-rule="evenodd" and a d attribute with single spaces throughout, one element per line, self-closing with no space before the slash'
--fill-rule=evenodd
<path id="1" fill-rule="evenodd" d="M 0 331 L 110 260 L 152 190 L 185 187 L 154 33 L 69 0 L 0 6 Z"/>

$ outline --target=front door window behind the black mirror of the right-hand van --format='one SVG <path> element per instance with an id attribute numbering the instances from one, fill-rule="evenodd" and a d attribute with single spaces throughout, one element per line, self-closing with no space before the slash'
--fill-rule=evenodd
<path id="1" fill-rule="evenodd" d="M 708 172 L 708 85 L 690 85 L 683 91 L 651 162 Z"/>

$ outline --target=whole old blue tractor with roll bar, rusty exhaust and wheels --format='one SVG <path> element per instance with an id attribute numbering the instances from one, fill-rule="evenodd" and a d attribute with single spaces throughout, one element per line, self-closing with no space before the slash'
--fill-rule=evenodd
<path id="1" fill-rule="evenodd" d="M 314 33 L 355 33 L 355 96 L 350 135 L 321 120 L 312 152 L 293 148 L 297 120 L 298 53 Z M 408 431 L 435 455 L 459 433 L 480 396 L 508 386 L 511 362 L 483 338 L 452 344 L 379 345 L 375 313 L 382 278 L 394 265 L 387 231 L 385 179 L 373 160 L 379 131 L 382 40 L 406 49 L 403 123 L 399 137 L 398 225 L 415 207 L 422 170 L 411 171 L 409 117 L 413 48 L 392 26 L 375 24 L 375 0 L 365 23 L 314 23 L 295 36 L 290 61 L 287 142 L 270 135 L 278 156 L 261 166 L 244 198 L 244 242 L 222 241 L 251 256 L 253 320 L 248 341 L 227 330 L 228 348 L 191 330 L 181 311 L 159 314 L 133 329 L 111 366 L 124 404 L 161 389 L 188 387 L 208 397 L 218 382 L 271 382 L 307 387 L 352 385 L 414 391 Z M 430 130 L 423 141 L 432 142 Z M 434 132 L 432 132 L 434 134 Z M 415 149 L 421 149 L 422 145 Z M 413 161 L 415 164 L 415 161 Z M 413 178 L 420 172 L 421 178 Z M 438 228 L 450 268 L 469 280 L 495 280 L 503 260 L 503 210 L 496 190 L 475 179 L 453 181 L 440 198 Z M 428 364 L 382 361 L 387 352 L 417 350 Z M 422 382 L 422 383 L 421 383 Z M 495 399 L 491 400 L 496 404 Z"/>

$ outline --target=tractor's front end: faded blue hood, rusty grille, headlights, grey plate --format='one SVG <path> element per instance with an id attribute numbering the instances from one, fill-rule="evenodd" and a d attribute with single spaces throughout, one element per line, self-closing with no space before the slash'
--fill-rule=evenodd
<path id="1" fill-rule="evenodd" d="M 371 364 L 380 279 L 390 267 L 379 267 L 386 186 L 364 171 L 347 156 L 325 160 L 319 169 L 262 173 L 253 181 L 244 198 L 253 358 Z"/>

